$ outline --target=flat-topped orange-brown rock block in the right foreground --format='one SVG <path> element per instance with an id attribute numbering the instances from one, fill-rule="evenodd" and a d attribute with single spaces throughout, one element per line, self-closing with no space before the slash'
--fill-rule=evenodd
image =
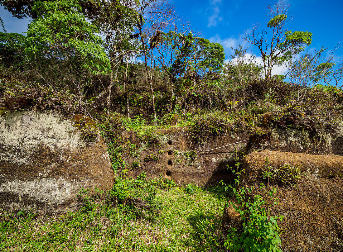
<path id="1" fill-rule="evenodd" d="M 271 167 L 285 163 L 300 165 L 301 175 L 296 186 L 270 183 L 276 188 L 280 203 L 271 209 L 281 214 L 279 223 L 282 251 L 335 251 L 335 240 L 341 236 L 343 222 L 343 157 L 290 152 L 261 151 L 250 153 L 243 163 L 242 186 L 255 187 L 254 194 L 266 199 L 265 189 L 259 189 L 265 171 L 265 158 Z"/>

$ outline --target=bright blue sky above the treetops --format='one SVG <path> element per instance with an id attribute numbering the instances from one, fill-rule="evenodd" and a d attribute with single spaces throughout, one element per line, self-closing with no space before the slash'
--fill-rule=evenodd
<path id="1" fill-rule="evenodd" d="M 255 23 L 266 27 L 269 21 L 267 5 L 274 3 L 272 0 L 170 0 L 170 2 L 174 4 L 178 16 L 190 21 L 191 26 L 201 32 L 204 38 L 224 46 L 226 59 L 229 59 L 231 54 L 230 47 L 236 47 L 238 44 L 248 47 L 252 54 L 258 53 L 256 48 L 240 40 L 239 35 Z M 293 15 L 293 19 L 288 23 L 289 30 L 309 31 L 313 34 L 312 44 L 306 50 L 314 51 L 322 47 L 333 49 L 343 39 L 342 0 L 288 0 L 287 2 L 291 5 L 288 16 Z M 0 15 L 8 32 L 26 31 L 28 19 L 16 19 L 2 7 Z M 337 52 L 337 56 L 343 58 L 343 49 Z"/>

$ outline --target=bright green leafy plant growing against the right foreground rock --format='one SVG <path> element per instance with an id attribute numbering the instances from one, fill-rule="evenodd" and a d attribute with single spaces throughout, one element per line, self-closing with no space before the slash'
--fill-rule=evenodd
<path id="1" fill-rule="evenodd" d="M 269 205 L 261 199 L 261 195 L 253 194 L 255 188 L 240 187 L 239 176 L 243 171 L 234 171 L 237 175 L 235 180 L 237 187 L 232 188 L 236 196 L 237 204 L 230 202 L 235 211 L 243 220 L 241 230 L 231 227 L 228 230 L 227 239 L 224 246 L 229 251 L 278 251 L 281 252 L 280 228 L 277 220 L 282 221 L 283 216 L 272 216 L 269 212 Z M 260 185 L 264 189 L 264 184 Z M 268 188 L 267 188 L 268 191 Z M 273 204 L 277 204 L 274 194 L 276 190 L 272 188 L 267 197 L 271 197 Z M 249 195 L 252 195 L 250 197 Z"/>

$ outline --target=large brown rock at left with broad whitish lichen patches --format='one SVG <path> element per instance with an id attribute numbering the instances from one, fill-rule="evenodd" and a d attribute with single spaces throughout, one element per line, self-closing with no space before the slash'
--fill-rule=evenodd
<path id="1" fill-rule="evenodd" d="M 80 127 L 56 112 L 1 116 L 1 203 L 58 211 L 77 205 L 80 187 L 109 189 L 113 171 L 106 144 L 99 134 L 91 143 L 84 141 Z"/>

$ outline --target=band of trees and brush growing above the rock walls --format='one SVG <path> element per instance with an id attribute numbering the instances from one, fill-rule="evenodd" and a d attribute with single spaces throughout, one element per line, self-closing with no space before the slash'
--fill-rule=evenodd
<path id="1" fill-rule="evenodd" d="M 288 31 L 289 5 L 282 2 L 269 6 L 268 24 L 241 35 L 260 50 L 262 65 L 241 46 L 224 63 L 223 46 L 179 20 L 167 1 L 1 4 L 17 18 L 32 18 L 26 36 L 6 33 L 2 23 L 0 106 L 10 110 L 118 111 L 157 124 L 173 111 L 307 103 L 320 91 L 339 94 L 342 86 L 342 64 L 335 62 L 341 44 L 296 57 L 312 34 Z M 288 73 L 272 75 L 285 62 Z"/>

